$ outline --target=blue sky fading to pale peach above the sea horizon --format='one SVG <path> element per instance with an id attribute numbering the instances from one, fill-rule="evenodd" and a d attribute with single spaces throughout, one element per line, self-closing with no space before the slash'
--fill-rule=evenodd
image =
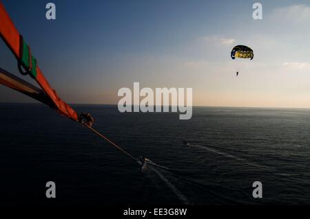
<path id="1" fill-rule="evenodd" d="M 194 106 L 310 107 L 309 1 L 258 1 L 260 21 L 245 0 L 54 0 L 56 21 L 48 1 L 2 2 L 67 102 L 117 104 L 140 82 L 192 87 Z M 254 60 L 231 60 L 239 44 Z M 19 74 L 2 41 L 0 66 Z M 0 86 L 0 102 L 34 101 Z"/>

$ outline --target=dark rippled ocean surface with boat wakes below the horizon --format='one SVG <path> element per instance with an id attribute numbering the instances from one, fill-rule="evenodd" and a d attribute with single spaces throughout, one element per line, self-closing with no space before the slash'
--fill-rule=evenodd
<path id="1" fill-rule="evenodd" d="M 43 104 L 0 104 L 1 205 L 310 204 L 310 110 L 196 107 L 179 120 L 73 107 L 134 157 L 165 168 L 142 168 Z M 45 198 L 48 181 L 56 198 Z M 252 196 L 255 181 L 262 198 Z"/>

